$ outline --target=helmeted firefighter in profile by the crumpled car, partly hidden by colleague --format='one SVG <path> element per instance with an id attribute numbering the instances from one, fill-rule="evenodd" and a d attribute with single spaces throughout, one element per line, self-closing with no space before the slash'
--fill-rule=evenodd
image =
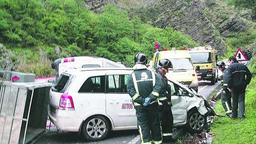
<path id="1" fill-rule="evenodd" d="M 159 94 L 158 113 L 161 121 L 161 131 L 163 141 L 172 140 L 173 131 L 173 113 L 171 110 L 172 102 L 170 95 L 170 85 L 168 85 L 168 79 L 165 74 L 169 68 L 172 68 L 172 63 L 168 59 L 162 59 L 159 61 L 157 74 L 161 77 L 164 83 L 164 89 Z"/>

